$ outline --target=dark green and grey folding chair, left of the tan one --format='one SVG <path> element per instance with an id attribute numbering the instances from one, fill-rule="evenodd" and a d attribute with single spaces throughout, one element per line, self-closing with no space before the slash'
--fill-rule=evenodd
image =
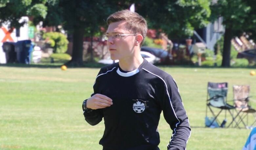
<path id="1" fill-rule="evenodd" d="M 207 118 L 207 111 L 208 108 L 210 110 L 210 112 L 212 113 L 213 119 L 211 121 L 211 123 L 209 125 L 206 125 L 208 127 L 210 127 L 211 125 L 213 125 L 213 123 L 217 122 L 217 124 L 220 127 L 224 127 L 225 123 L 226 123 L 226 111 L 228 110 L 229 114 L 231 115 L 231 117 L 233 118 L 232 122 L 236 122 L 235 118 L 233 116 L 233 113 L 231 113 L 231 109 L 235 109 L 234 106 L 229 105 L 226 103 L 226 98 L 227 98 L 227 83 L 213 83 L 213 82 L 208 82 L 208 86 L 207 86 L 207 103 L 206 103 L 206 118 Z M 218 110 L 217 115 L 216 112 L 213 111 L 212 108 L 218 108 L 220 110 Z M 220 124 L 220 121 L 218 120 L 218 116 L 220 115 L 220 113 L 222 112 L 222 110 L 225 110 L 225 119 L 224 121 Z"/>

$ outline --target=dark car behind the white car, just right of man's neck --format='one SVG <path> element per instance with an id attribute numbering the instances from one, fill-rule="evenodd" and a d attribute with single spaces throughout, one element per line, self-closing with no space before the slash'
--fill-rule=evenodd
<path id="1" fill-rule="evenodd" d="M 156 57 L 160 58 L 160 62 L 164 62 L 167 57 L 169 57 L 170 60 L 172 59 L 172 54 L 168 54 L 167 51 L 160 48 L 142 46 L 140 50 L 155 55 Z"/>

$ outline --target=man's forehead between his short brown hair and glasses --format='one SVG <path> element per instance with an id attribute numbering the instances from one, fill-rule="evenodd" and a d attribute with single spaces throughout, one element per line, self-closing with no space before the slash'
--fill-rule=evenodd
<path id="1" fill-rule="evenodd" d="M 128 29 L 126 28 L 126 21 L 123 20 L 109 24 L 106 34 L 126 33 L 127 31 Z"/>

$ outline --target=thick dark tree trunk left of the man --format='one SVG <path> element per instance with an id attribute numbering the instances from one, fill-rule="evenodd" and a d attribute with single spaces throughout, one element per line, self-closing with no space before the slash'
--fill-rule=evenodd
<path id="1" fill-rule="evenodd" d="M 81 66 L 83 65 L 83 37 L 84 28 L 74 28 L 73 33 L 73 50 L 72 59 L 67 63 L 67 65 Z"/>

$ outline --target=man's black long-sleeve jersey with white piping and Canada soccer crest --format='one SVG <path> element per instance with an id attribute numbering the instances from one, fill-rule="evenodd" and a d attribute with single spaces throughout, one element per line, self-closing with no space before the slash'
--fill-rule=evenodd
<path id="1" fill-rule="evenodd" d="M 171 75 L 144 59 L 138 69 L 124 73 L 118 63 L 101 68 L 93 86 L 113 100 L 107 108 L 84 111 L 97 125 L 104 118 L 103 150 L 159 150 L 160 113 L 173 130 L 168 150 L 185 149 L 190 126 L 181 96 Z"/>

